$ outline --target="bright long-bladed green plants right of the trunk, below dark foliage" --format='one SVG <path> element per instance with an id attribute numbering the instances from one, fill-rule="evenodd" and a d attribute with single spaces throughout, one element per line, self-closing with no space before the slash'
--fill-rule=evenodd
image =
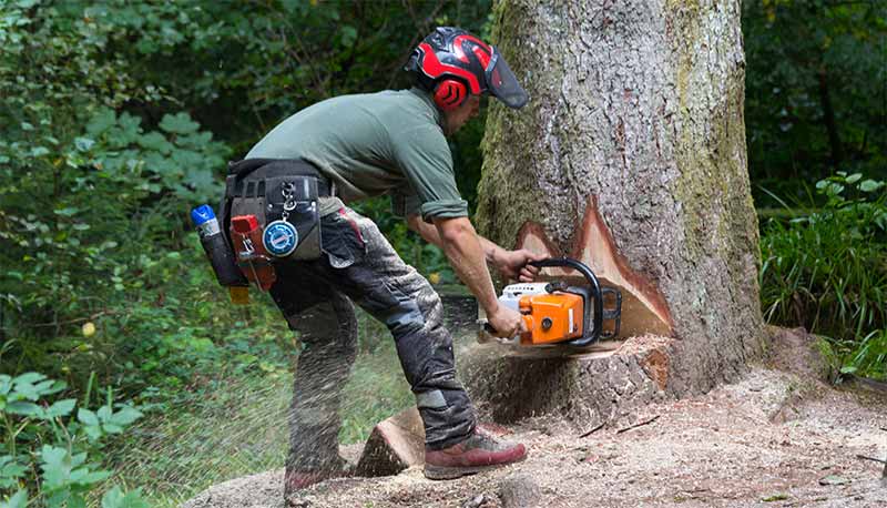
<path id="1" fill-rule="evenodd" d="M 822 207 L 764 226 L 764 315 L 832 337 L 845 366 L 884 376 L 887 185 L 838 172 L 816 190 Z"/>

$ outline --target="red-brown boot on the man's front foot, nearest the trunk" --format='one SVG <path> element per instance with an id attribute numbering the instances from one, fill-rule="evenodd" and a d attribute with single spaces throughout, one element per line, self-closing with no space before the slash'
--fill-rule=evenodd
<path id="1" fill-rule="evenodd" d="M 527 458 L 527 448 L 493 437 L 477 427 L 468 439 L 442 450 L 425 449 L 425 476 L 432 480 L 449 480 L 460 476 L 496 469 Z"/>

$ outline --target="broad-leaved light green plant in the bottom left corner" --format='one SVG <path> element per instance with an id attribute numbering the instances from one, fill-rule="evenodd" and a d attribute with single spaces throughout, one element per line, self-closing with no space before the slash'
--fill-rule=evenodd
<path id="1" fill-rule="evenodd" d="M 86 506 L 111 471 L 98 468 L 102 438 L 121 434 L 142 414 L 126 404 L 108 402 L 96 412 L 80 407 L 77 400 L 50 400 L 67 388 L 63 382 L 38 373 L 16 377 L 0 374 L 0 423 L 3 427 L 3 455 L 0 455 L 0 489 L 16 494 L 6 506 L 23 507 L 42 502 L 53 507 Z M 33 494 L 33 496 L 31 496 Z M 125 502 L 124 502 L 125 500 Z M 105 492 L 103 506 L 145 506 L 139 491 L 124 495 L 119 488 Z"/>

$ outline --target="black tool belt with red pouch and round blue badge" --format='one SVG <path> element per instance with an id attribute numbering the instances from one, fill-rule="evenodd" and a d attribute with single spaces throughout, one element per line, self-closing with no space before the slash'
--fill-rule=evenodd
<path id="1" fill-rule="evenodd" d="M 257 268 L 320 257 L 319 199 L 333 194 L 334 185 L 303 160 L 228 164 L 220 219 L 244 275 L 266 289 L 274 277 L 262 277 Z"/>

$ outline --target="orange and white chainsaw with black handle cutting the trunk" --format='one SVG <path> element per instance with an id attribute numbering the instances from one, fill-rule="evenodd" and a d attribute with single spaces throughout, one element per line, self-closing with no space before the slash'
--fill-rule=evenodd
<path id="1" fill-rule="evenodd" d="M 518 334 L 507 344 L 519 346 L 590 346 L 601 338 L 619 335 L 622 315 L 622 293 L 614 287 L 601 287 L 594 272 L 570 257 L 532 261 L 540 268 L 565 267 L 581 273 L 588 286 L 568 286 L 564 281 L 510 284 L 502 289 L 499 304 L 521 314 L 528 332 Z M 604 322 L 610 326 L 603 329 Z M 483 331 L 496 331 L 481 321 Z"/>

